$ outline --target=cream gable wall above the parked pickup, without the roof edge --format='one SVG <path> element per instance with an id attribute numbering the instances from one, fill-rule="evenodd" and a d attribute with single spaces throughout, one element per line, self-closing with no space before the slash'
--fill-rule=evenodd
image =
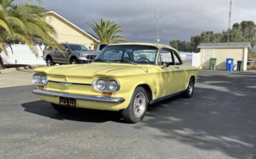
<path id="1" fill-rule="evenodd" d="M 48 15 L 46 21 L 55 28 L 57 41 L 82 44 L 93 49 L 93 40 L 55 15 Z"/>

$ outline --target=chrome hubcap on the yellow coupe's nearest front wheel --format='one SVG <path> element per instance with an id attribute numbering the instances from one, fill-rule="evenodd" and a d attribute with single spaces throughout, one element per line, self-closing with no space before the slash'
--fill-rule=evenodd
<path id="1" fill-rule="evenodd" d="M 146 97 L 143 93 L 138 93 L 134 100 L 134 115 L 140 118 L 146 109 Z"/>

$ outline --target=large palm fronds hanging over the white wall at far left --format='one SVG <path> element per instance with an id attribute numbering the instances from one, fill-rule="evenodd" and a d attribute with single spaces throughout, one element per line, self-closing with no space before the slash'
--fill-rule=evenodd
<path id="1" fill-rule="evenodd" d="M 7 55 L 6 46 L 11 48 L 15 41 L 27 44 L 35 55 L 35 44 L 44 43 L 62 50 L 62 46 L 55 40 L 53 26 L 44 20 L 47 10 L 29 3 L 14 5 L 12 1 L 0 0 L 0 49 L 3 53 Z"/>

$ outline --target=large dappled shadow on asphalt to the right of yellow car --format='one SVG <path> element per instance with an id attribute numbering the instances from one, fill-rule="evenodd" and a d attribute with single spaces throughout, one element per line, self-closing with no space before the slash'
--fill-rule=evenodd
<path id="1" fill-rule="evenodd" d="M 247 74 L 247 73 L 245 73 Z M 158 140 L 176 140 L 232 158 L 256 156 L 256 74 L 202 75 L 190 99 L 181 96 L 149 107 L 141 127 Z"/>

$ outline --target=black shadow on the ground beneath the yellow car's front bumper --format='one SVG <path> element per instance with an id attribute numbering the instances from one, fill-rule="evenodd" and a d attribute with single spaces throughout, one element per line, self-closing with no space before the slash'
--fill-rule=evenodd
<path id="1" fill-rule="evenodd" d="M 74 109 L 71 112 L 59 113 L 53 109 L 50 103 L 43 100 L 21 104 L 24 111 L 35 113 L 55 120 L 73 120 L 78 122 L 121 122 L 127 123 L 121 118 L 118 111 L 100 111 L 93 109 Z"/>

